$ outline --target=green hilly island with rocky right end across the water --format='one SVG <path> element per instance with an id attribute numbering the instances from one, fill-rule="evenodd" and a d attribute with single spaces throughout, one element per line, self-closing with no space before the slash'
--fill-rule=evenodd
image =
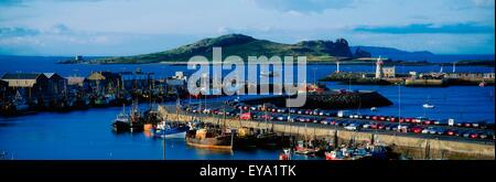
<path id="1" fill-rule="evenodd" d="M 134 56 L 106 57 L 86 61 L 85 63 L 97 64 L 123 64 L 123 63 L 160 63 L 160 62 L 186 62 L 192 56 L 203 55 L 212 60 L 214 46 L 223 47 L 223 58 L 229 55 L 241 56 L 245 61 L 248 56 L 268 57 L 279 56 L 303 56 L 308 61 L 335 61 L 337 58 L 351 58 L 354 54 L 349 50 L 348 42 L 344 39 L 336 41 L 302 41 L 295 44 L 282 44 L 267 40 L 258 40 L 242 34 L 227 34 L 197 41 L 192 44 L 176 49 Z M 76 63 L 64 61 L 62 63 Z M 80 63 L 80 62 L 77 62 Z"/>

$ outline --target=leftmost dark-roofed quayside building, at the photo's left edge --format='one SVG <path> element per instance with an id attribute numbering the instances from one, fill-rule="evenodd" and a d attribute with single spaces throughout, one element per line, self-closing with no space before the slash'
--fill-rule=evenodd
<path id="1" fill-rule="evenodd" d="M 29 100 L 44 95 L 44 92 L 50 89 L 48 78 L 41 73 L 6 73 L 1 79 L 8 83 L 9 93 L 19 92 Z"/>

